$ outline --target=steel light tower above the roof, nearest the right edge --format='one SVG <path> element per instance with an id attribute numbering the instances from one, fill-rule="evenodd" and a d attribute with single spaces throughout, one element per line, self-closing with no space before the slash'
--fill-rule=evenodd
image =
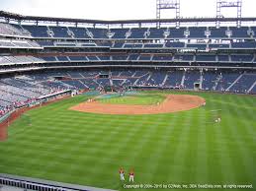
<path id="1" fill-rule="evenodd" d="M 242 0 L 217 0 L 216 1 L 216 19 L 222 18 L 222 8 L 236 8 L 236 26 L 241 27 Z M 219 28 L 220 22 L 216 20 L 216 27 Z"/>

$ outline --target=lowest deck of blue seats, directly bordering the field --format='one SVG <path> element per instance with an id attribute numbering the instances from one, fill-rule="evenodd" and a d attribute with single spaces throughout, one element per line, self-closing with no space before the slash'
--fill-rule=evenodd
<path id="1" fill-rule="evenodd" d="M 100 74 L 109 74 L 100 78 Z M 58 80 L 60 79 L 60 80 Z M 44 71 L 0 79 L 0 115 L 39 96 L 63 90 L 97 90 L 108 86 L 149 86 L 194 89 L 200 83 L 206 91 L 256 94 L 256 73 L 244 71 L 118 69 Z"/>

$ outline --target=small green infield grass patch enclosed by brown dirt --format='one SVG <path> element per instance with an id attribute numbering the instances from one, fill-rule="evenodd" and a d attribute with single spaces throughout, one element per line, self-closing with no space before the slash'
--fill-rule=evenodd
<path id="1" fill-rule="evenodd" d="M 163 95 L 157 94 L 138 94 L 131 96 L 114 96 L 110 98 L 99 98 L 97 99 L 102 103 L 111 103 L 111 104 L 132 104 L 132 105 L 150 105 L 161 103 L 165 99 Z"/>

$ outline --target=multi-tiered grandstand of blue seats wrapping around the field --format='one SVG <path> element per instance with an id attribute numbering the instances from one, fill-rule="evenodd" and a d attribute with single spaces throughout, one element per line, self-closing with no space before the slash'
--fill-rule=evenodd
<path id="1" fill-rule="evenodd" d="M 42 96 L 102 87 L 255 95 L 256 18 L 239 21 L 95 21 L 0 11 L 0 116 Z"/>

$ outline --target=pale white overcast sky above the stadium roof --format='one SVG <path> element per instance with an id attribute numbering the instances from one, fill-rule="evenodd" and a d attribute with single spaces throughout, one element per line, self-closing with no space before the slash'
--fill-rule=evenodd
<path id="1" fill-rule="evenodd" d="M 181 17 L 215 17 L 216 0 L 180 0 Z M 228 1 L 228 0 L 227 0 Z M 243 0 L 242 17 L 256 17 L 256 0 Z M 91 20 L 155 19 L 156 0 L 0 0 L 0 10 L 30 16 Z M 222 9 L 236 17 L 236 9 Z M 174 18 L 174 11 L 162 18 Z"/>

